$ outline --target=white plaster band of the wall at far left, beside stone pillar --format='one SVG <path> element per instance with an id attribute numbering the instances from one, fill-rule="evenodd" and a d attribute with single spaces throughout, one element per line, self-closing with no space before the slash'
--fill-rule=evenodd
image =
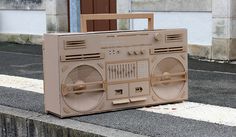
<path id="1" fill-rule="evenodd" d="M 46 33 L 46 11 L 0 10 L 0 33 Z"/>

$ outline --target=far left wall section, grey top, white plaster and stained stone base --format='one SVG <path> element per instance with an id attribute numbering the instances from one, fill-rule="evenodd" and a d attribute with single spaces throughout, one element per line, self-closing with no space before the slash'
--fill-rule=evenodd
<path id="1" fill-rule="evenodd" d="M 1 0 L 0 41 L 41 44 L 46 32 L 46 0 Z"/>

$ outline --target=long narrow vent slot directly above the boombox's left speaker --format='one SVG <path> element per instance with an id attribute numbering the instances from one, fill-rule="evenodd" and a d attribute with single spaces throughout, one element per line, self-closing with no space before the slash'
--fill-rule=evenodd
<path id="1" fill-rule="evenodd" d="M 61 57 L 61 61 L 97 60 L 103 59 L 104 56 L 102 53 L 65 55 Z"/>

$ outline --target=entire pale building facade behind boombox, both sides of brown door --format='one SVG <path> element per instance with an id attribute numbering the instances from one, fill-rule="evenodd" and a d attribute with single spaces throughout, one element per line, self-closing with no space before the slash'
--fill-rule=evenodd
<path id="1" fill-rule="evenodd" d="M 70 0 L 71 31 L 79 31 L 80 0 Z M 153 12 L 155 28 L 187 28 L 189 53 L 236 59 L 235 0 L 117 0 L 117 13 Z M 41 43 L 44 32 L 68 32 L 68 0 L 0 0 L 0 41 Z M 46 19 L 45 19 L 46 17 Z M 143 29 L 143 20 L 119 20 L 119 29 Z M 16 33 L 16 35 L 14 35 Z M 36 36 L 36 37 L 35 37 Z"/>

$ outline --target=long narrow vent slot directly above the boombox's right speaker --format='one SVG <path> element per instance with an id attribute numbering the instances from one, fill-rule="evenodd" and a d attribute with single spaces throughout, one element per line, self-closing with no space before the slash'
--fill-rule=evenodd
<path id="1" fill-rule="evenodd" d="M 183 51 L 184 51 L 184 47 L 155 48 L 155 49 L 151 49 L 151 54 L 183 52 Z"/>

